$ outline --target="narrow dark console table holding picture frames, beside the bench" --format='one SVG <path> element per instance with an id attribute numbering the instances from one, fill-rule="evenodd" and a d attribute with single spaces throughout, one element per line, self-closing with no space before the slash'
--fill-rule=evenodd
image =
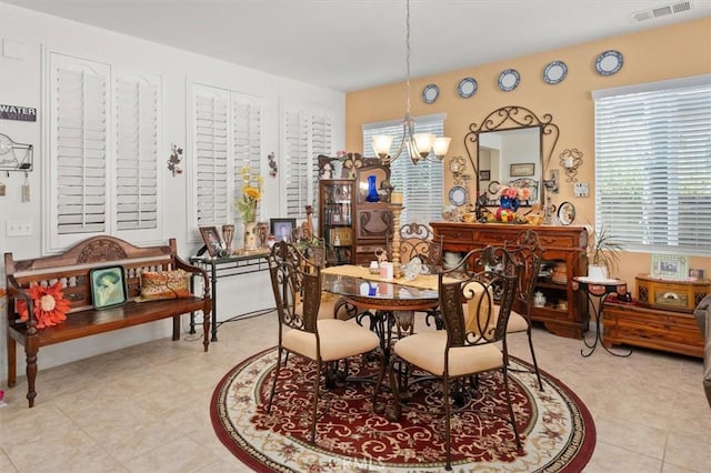
<path id="1" fill-rule="evenodd" d="M 229 278 L 233 275 L 243 275 L 258 271 L 267 271 L 269 269 L 269 264 L 267 263 L 267 255 L 269 255 L 269 250 L 251 251 L 244 254 L 233 254 L 231 256 L 224 258 L 193 256 L 190 259 L 191 264 L 204 269 L 210 276 L 210 285 L 212 290 L 212 338 L 210 341 L 218 341 L 218 328 L 226 322 L 233 322 L 250 316 L 262 315 L 274 310 L 273 308 L 261 309 L 258 311 L 242 313 L 222 322 L 218 322 L 218 279 Z M 194 290 L 192 279 L 190 280 L 190 290 Z M 190 333 L 196 333 L 194 314 L 192 313 L 190 314 Z"/>

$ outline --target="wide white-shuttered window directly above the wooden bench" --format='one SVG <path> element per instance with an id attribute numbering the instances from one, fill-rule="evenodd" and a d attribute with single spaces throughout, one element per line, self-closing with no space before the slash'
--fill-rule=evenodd
<path id="1" fill-rule="evenodd" d="M 44 61 L 48 250 L 159 240 L 161 78 L 49 49 Z"/>

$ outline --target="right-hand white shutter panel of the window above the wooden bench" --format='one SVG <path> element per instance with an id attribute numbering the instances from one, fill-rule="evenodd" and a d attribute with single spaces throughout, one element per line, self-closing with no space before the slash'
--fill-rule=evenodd
<path id="1" fill-rule="evenodd" d="M 158 228 L 160 78 L 118 71 L 117 230 Z"/>

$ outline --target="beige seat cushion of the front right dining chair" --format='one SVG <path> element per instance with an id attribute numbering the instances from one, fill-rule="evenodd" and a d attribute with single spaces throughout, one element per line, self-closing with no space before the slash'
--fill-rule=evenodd
<path id="1" fill-rule="evenodd" d="M 432 374 L 444 374 L 444 349 L 447 332 L 422 332 L 400 339 L 393 351 L 404 361 Z M 451 349 L 449 352 L 449 374 L 460 376 L 494 370 L 503 365 L 503 353 L 494 344 L 472 345 Z"/>

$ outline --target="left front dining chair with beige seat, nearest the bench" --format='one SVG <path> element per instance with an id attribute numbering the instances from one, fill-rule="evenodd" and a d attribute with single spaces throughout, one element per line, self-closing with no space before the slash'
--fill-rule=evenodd
<path id="1" fill-rule="evenodd" d="M 321 379 L 332 382 L 332 365 L 341 360 L 374 352 L 384 369 L 380 339 L 373 332 L 339 319 L 319 319 L 321 305 L 320 268 L 289 242 L 278 242 L 268 258 L 272 291 L 279 315 L 278 359 L 267 413 L 271 412 L 277 381 L 288 355 L 303 356 L 316 363 L 311 405 L 311 443 L 316 441 Z M 348 381 L 348 379 L 346 380 Z M 374 397 L 373 397 L 374 400 Z"/>

